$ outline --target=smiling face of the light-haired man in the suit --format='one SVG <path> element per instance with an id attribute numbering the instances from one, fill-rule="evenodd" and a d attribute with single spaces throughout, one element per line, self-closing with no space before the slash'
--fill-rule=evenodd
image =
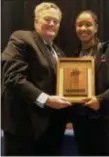
<path id="1" fill-rule="evenodd" d="M 38 19 L 35 19 L 37 32 L 43 39 L 52 41 L 58 33 L 60 26 L 59 12 L 50 8 L 43 10 Z"/>

